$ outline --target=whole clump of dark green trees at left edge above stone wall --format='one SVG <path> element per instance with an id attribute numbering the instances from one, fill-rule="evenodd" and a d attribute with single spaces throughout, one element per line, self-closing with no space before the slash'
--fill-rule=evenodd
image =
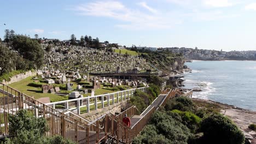
<path id="1" fill-rule="evenodd" d="M 5 42 L 8 45 L 0 44 L 0 81 L 9 81 L 15 74 L 43 66 L 44 50 L 38 40 L 6 29 Z"/>

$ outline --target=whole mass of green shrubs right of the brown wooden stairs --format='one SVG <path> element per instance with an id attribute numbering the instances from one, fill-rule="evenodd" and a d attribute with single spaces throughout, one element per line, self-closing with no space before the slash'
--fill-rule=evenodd
<path id="1" fill-rule="evenodd" d="M 241 130 L 218 109 L 187 97 L 171 99 L 153 113 L 133 143 L 245 143 Z"/>

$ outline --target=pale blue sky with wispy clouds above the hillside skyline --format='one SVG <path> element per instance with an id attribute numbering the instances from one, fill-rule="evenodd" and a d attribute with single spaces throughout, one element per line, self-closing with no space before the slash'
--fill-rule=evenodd
<path id="1" fill-rule="evenodd" d="M 4 29 L 131 46 L 256 50 L 255 0 L 0 1 Z M 6 23 L 4 26 L 3 23 Z"/>

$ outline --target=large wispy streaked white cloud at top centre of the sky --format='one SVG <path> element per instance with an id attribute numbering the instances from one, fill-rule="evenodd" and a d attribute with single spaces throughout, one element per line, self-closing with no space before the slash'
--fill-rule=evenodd
<path id="1" fill-rule="evenodd" d="M 148 7 L 146 3 L 140 3 L 142 7 L 148 9 L 152 13 L 143 13 L 138 9 L 130 9 L 117 1 L 98 1 L 88 4 L 78 5 L 74 8 L 78 14 L 89 16 L 110 17 L 125 23 L 119 23 L 118 27 L 131 29 L 148 29 L 148 28 L 170 28 L 180 20 L 172 19 L 172 16 L 165 16 L 156 13 L 157 10 Z"/>

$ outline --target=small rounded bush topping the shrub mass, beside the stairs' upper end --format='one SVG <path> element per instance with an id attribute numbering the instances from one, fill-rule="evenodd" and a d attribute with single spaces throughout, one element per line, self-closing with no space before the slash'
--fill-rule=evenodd
<path id="1" fill-rule="evenodd" d="M 188 97 L 178 97 L 171 99 L 165 105 L 165 110 L 180 110 L 180 111 L 194 111 L 195 105 L 193 101 Z"/>

